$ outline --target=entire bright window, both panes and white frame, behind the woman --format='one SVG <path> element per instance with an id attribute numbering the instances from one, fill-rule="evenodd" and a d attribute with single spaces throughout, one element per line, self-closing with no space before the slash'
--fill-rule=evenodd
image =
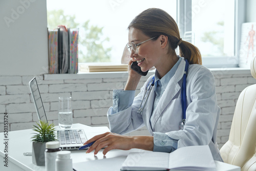
<path id="1" fill-rule="evenodd" d="M 147 8 L 161 8 L 177 20 L 180 36 L 199 48 L 208 68 L 238 66 L 238 26 L 244 23 L 244 7 L 245 2 L 239 0 L 47 1 L 48 14 L 62 9 L 79 27 L 79 62 L 120 62 L 131 20 Z M 90 33 L 91 28 L 97 31 Z M 98 36 L 97 40 L 90 35 Z M 90 46 L 94 43 L 98 46 Z"/>

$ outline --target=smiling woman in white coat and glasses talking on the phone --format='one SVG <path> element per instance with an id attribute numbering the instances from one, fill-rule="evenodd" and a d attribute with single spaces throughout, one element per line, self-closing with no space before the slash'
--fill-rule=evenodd
<path id="1" fill-rule="evenodd" d="M 84 143 L 95 141 L 87 153 L 97 154 L 102 147 L 103 155 L 131 148 L 170 153 L 184 146 L 209 145 L 214 159 L 222 161 L 216 142 L 220 108 L 215 79 L 201 65 L 198 48 L 180 38 L 175 20 L 161 9 L 143 11 L 128 30 L 129 76 L 124 90 L 113 91 L 107 114 L 112 133 Z M 156 68 L 135 98 L 141 75 L 130 68 L 132 62 L 143 72 Z M 144 125 L 152 136 L 123 135 Z"/>

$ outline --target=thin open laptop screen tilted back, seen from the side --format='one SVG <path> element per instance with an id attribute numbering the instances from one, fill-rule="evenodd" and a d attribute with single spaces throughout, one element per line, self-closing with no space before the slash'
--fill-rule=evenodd
<path id="1" fill-rule="evenodd" d="M 45 113 L 45 108 L 44 108 L 44 105 L 42 104 L 41 95 L 39 93 L 39 89 L 38 89 L 38 85 L 35 77 L 31 81 L 29 81 L 29 88 L 35 104 L 35 110 L 36 110 L 38 119 L 41 121 L 48 122 L 46 113 Z"/>

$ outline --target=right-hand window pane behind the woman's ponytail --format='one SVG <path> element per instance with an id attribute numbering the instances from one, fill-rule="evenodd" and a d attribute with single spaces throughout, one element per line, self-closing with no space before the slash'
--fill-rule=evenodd
<path id="1" fill-rule="evenodd" d="M 234 56 L 234 1 L 192 0 L 192 33 L 203 57 Z"/>

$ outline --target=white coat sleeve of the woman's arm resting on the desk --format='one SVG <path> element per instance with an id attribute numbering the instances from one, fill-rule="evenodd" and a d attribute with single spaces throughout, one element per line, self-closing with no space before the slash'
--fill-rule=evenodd
<path id="1" fill-rule="evenodd" d="M 187 77 L 186 90 L 188 105 L 184 130 L 171 131 L 166 135 L 178 140 L 178 148 L 208 145 L 214 136 L 220 112 L 214 76 L 204 67 L 192 69 Z"/>

